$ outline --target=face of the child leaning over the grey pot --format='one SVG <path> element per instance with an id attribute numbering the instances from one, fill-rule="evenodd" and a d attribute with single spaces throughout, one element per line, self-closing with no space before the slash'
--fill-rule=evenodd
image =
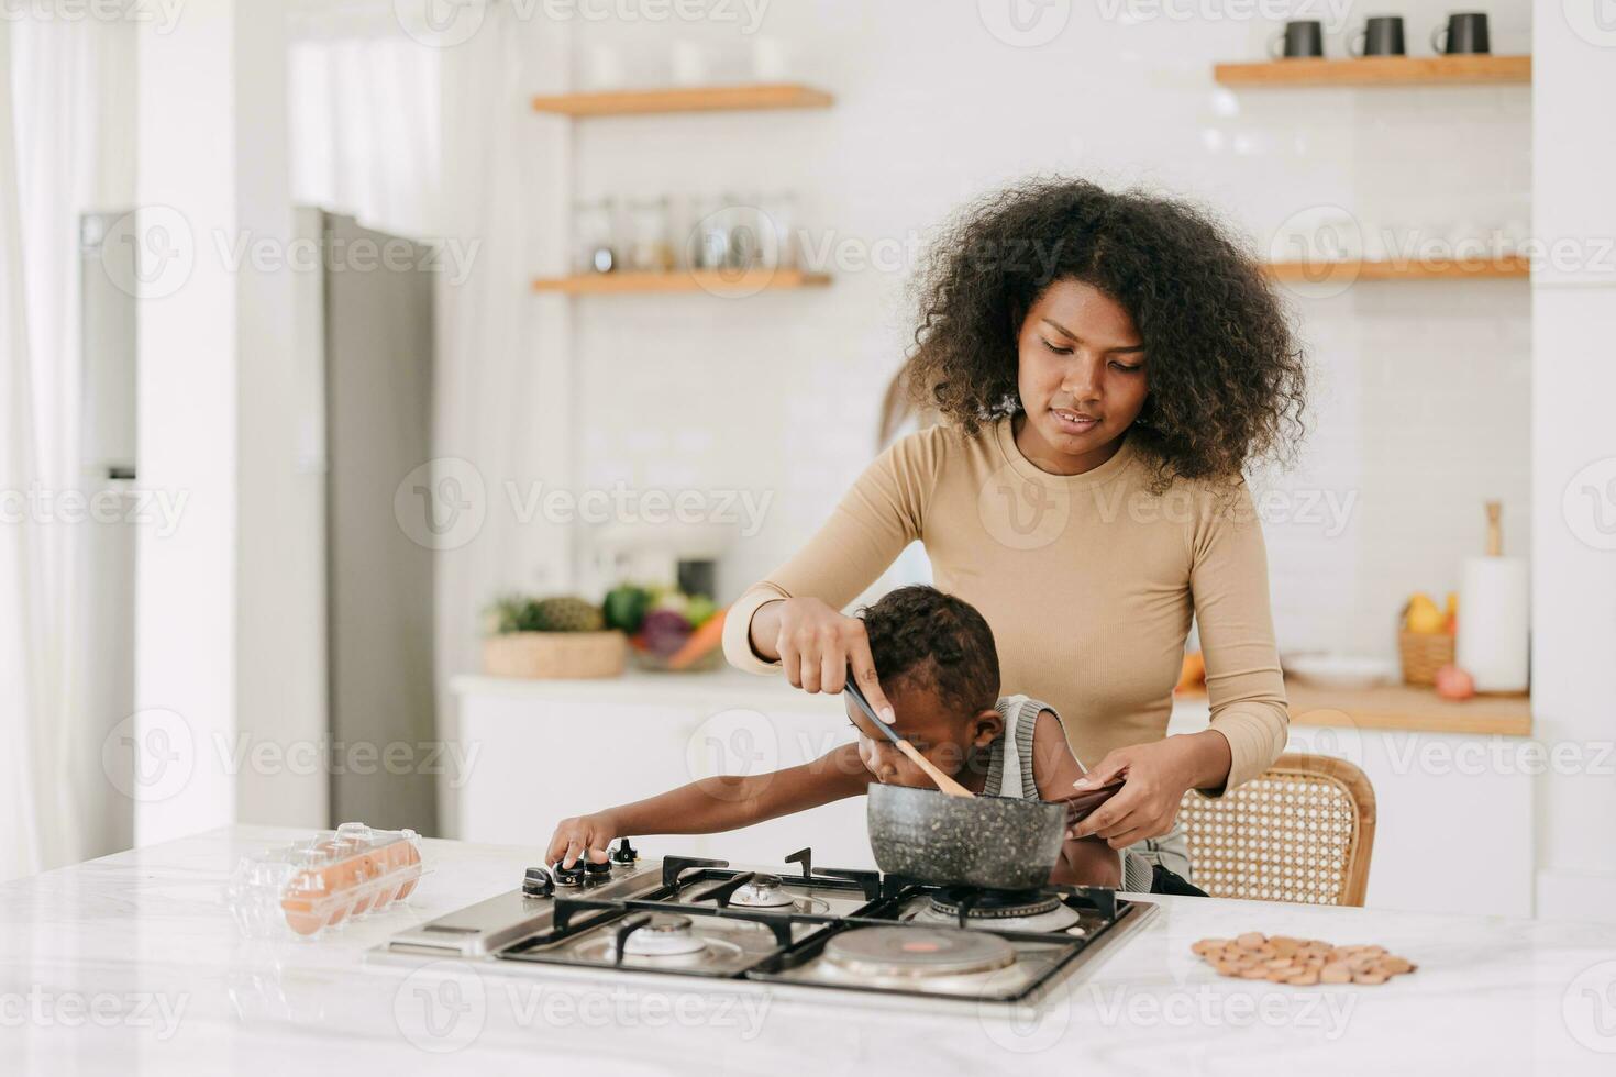
<path id="1" fill-rule="evenodd" d="M 897 715 L 892 730 L 950 777 L 965 770 L 966 761 L 992 744 L 1004 730 L 1004 720 L 997 710 L 960 714 L 945 706 L 928 688 L 903 686 L 900 681 L 897 688 L 886 688 L 886 694 Z M 936 788 L 926 772 L 910 762 L 908 756 L 876 728 L 856 702 L 852 699 L 844 702 L 848 720 L 858 730 L 858 757 L 876 782 Z"/>

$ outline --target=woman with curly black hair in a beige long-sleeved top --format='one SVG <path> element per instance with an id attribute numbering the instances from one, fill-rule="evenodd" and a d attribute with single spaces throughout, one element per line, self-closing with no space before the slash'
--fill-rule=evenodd
<path id="1" fill-rule="evenodd" d="M 1065 719 L 1079 827 L 1189 877 L 1186 790 L 1218 796 L 1283 751 L 1288 714 L 1262 531 L 1243 470 L 1301 433 L 1306 368 L 1259 266 L 1206 215 L 1081 181 L 971 207 L 921 281 L 903 378 L 944 423 L 887 449 L 726 622 L 730 664 L 890 720 L 842 607 L 920 539 L 936 585 L 999 643 L 1004 691 Z M 1165 736 L 1191 620 L 1210 728 Z"/>

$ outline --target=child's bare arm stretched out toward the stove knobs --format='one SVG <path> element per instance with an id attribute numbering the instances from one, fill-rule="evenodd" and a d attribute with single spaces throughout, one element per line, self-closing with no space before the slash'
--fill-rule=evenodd
<path id="1" fill-rule="evenodd" d="M 735 830 L 858 796 L 873 780 L 858 757 L 856 743 L 772 773 L 701 778 L 633 804 L 561 820 L 549 838 L 545 862 L 564 861 L 566 867 L 572 867 L 583 854 L 601 861 L 612 838 Z"/>

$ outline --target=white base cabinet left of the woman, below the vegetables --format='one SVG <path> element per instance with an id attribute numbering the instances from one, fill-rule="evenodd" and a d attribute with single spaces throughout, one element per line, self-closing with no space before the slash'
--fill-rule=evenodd
<path id="1" fill-rule="evenodd" d="M 454 683 L 462 752 L 456 836 L 541 846 L 556 822 L 716 773 L 766 773 L 852 740 L 837 699 L 748 673 L 635 675 L 603 681 Z M 706 835 L 637 840 L 654 853 L 779 864 L 811 846 L 832 867 L 874 867 L 863 798 Z"/>

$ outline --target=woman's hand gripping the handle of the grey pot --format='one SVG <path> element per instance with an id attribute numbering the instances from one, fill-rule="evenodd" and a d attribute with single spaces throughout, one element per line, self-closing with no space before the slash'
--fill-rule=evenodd
<path id="1" fill-rule="evenodd" d="M 1173 828 L 1185 793 L 1223 785 L 1228 765 L 1228 740 L 1217 730 L 1118 748 L 1071 783 L 1091 790 L 1125 780 L 1070 836 L 1099 836 L 1113 849 L 1157 838 Z"/>

